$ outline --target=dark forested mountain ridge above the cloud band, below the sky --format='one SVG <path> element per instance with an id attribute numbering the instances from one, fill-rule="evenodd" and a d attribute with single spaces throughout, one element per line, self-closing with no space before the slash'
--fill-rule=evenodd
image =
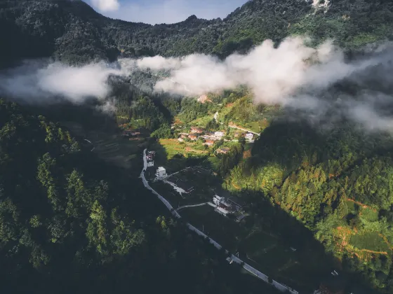
<path id="1" fill-rule="evenodd" d="M 292 34 L 309 34 L 317 43 L 334 38 L 357 50 L 391 38 L 392 24 L 393 3 L 384 0 L 253 0 L 224 20 L 192 15 L 154 26 L 105 18 L 80 0 L 8 0 L 0 3 L 0 61 L 51 56 L 83 63 L 194 52 L 226 57 Z"/>

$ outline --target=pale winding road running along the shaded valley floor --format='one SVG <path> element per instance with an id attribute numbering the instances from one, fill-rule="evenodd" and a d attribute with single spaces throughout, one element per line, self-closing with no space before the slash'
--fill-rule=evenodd
<path id="1" fill-rule="evenodd" d="M 147 182 L 147 180 L 145 178 L 145 171 L 147 169 L 146 151 L 147 151 L 147 149 L 145 149 L 143 151 L 143 169 L 142 169 L 142 172 L 140 172 L 140 178 L 142 179 L 143 185 L 145 186 L 145 188 L 147 188 L 148 190 L 152 191 L 152 193 L 154 195 L 156 195 L 159 198 L 159 200 L 161 200 L 161 202 L 163 202 L 165 204 L 166 208 L 168 208 L 168 210 L 171 211 L 171 214 L 173 214 L 173 216 L 175 216 L 175 218 L 181 218 L 180 214 L 178 214 L 178 211 L 173 209 L 171 203 L 169 203 L 164 197 L 159 195 L 159 193 L 156 193 L 156 191 L 152 187 L 149 186 L 149 183 Z M 209 202 L 206 202 L 206 203 L 203 203 L 203 204 L 190 205 L 188 207 L 200 206 L 200 205 L 204 205 L 204 204 L 208 204 L 208 203 Z M 185 208 L 185 207 L 187 207 L 187 205 L 182 207 L 182 208 Z M 187 223 L 186 225 L 187 225 L 187 228 L 189 228 L 189 230 L 192 230 L 192 231 L 196 232 L 196 234 L 198 234 L 199 236 L 202 236 L 202 237 L 208 239 L 208 241 L 211 244 L 213 244 L 213 246 L 215 246 L 215 248 L 218 248 L 218 249 L 222 248 L 222 246 L 220 244 L 218 244 L 216 241 L 211 239 L 211 237 L 208 237 L 207 235 L 205 235 L 203 232 L 201 232 L 200 230 L 195 228 L 190 223 Z M 227 251 L 226 249 L 225 249 L 225 252 L 229 254 L 229 251 Z M 251 265 L 248 265 L 246 262 L 244 262 L 243 260 L 237 258 L 237 256 L 233 255 L 232 253 L 231 253 L 231 259 L 234 262 L 236 262 L 237 264 L 241 265 L 248 272 L 251 272 L 251 274 L 254 274 L 255 276 L 257 276 L 262 281 L 265 281 L 266 283 L 269 283 L 269 278 L 268 278 L 267 275 L 262 274 L 262 272 L 258 271 L 258 269 L 255 269 L 255 268 L 251 267 Z M 277 288 L 278 290 L 281 290 L 282 292 L 289 291 L 289 293 L 292 293 L 292 294 L 299 294 L 298 291 L 293 290 L 292 288 L 290 288 L 290 287 L 288 287 L 286 285 L 283 285 L 283 284 L 281 284 L 281 283 L 279 283 L 277 281 L 274 281 L 274 280 L 272 280 L 271 285 L 274 286 L 275 288 Z"/>

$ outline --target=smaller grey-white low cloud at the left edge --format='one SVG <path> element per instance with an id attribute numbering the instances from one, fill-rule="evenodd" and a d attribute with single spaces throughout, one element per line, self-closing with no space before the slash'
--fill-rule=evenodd
<path id="1" fill-rule="evenodd" d="M 88 97 L 104 98 L 110 75 L 119 69 L 104 63 L 66 66 L 60 63 L 25 62 L 0 73 L 0 92 L 27 103 L 51 103 L 56 97 L 84 102 Z"/>

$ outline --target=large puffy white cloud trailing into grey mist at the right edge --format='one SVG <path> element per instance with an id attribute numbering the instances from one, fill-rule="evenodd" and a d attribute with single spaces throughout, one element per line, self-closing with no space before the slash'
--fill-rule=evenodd
<path id="1" fill-rule="evenodd" d="M 392 51 L 385 48 L 386 53 L 380 54 L 375 50 L 368 58 L 347 62 L 331 41 L 318 48 L 308 47 L 305 41 L 286 38 L 274 48 L 267 40 L 246 55 L 233 54 L 225 60 L 194 54 L 168 59 L 145 57 L 132 64 L 140 69 L 169 71 L 168 78 L 156 83 L 157 91 L 199 97 L 247 85 L 255 102 L 281 104 L 319 127 L 333 127 L 346 118 L 364 130 L 393 132 L 392 116 L 381 112 L 393 103 L 393 87 L 391 94 L 382 93 L 393 83 Z M 121 64 L 131 63 L 124 60 Z M 329 92 L 331 85 L 345 79 L 362 91 Z M 377 83 L 383 85 L 381 92 L 371 90 Z"/>

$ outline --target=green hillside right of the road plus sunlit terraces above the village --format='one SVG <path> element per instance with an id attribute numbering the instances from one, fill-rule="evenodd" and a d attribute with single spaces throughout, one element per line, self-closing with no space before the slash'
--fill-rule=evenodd
<path id="1" fill-rule="evenodd" d="M 224 130 L 229 141 L 234 134 L 231 123 L 260 132 L 253 144 L 218 141 L 206 157 L 206 166 L 222 177 L 222 187 L 251 205 L 253 222 L 282 232 L 288 242 L 302 248 L 307 242 L 304 232 L 288 220 L 282 223 L 283 216 L 267 207 L 285 211 L 340 260 L 341 270 L 361 273 L 362 281 L 391 293 L 392 135 L 366 132 L 345 119 L 318 127 L 295 118 L 291 110 L 255 105 L 244 89 L 208 98 L 204 104 L 183 99 L 176 129 L 179 125 L 184 132 L 182 128 L 198 125 L 209 132 Z M 219 123 L 213 120 L 216 111 Z M 171 130 L 154 134 L 177 137 Z M 229 152 L 216 155 L 222 144 Z"/>

